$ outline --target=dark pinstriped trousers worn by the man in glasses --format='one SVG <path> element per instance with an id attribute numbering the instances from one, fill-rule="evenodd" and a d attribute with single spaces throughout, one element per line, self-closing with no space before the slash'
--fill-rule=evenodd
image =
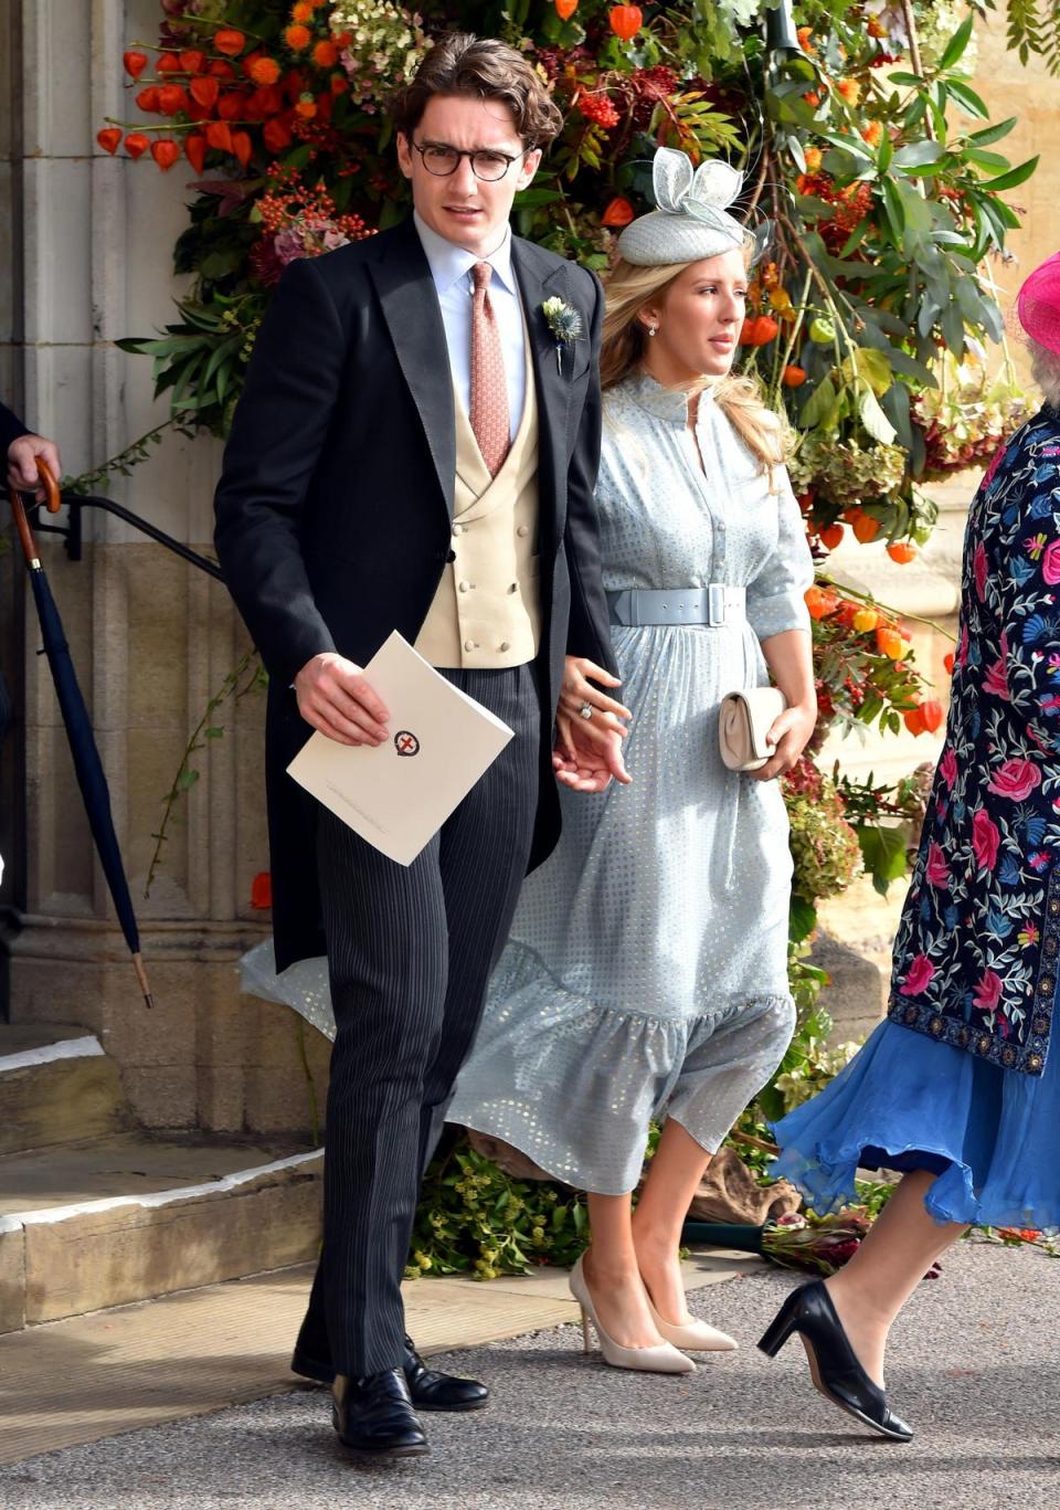
<path id="1" fill-rule="evenodd" d="M 319 815 L 337 1034 L 323 1256 L 299 1350 L 353 1377 L 402 1362 L 400 1280 L 420 1176 L 507 938 L 538 806 L 533 666 L 442 675 L 515 738 L 412 865 Z"/>

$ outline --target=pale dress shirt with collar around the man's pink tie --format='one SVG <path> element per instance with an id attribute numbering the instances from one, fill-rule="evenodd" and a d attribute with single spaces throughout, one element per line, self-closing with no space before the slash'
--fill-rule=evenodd
<path id="1" fill-rule="evenodd" d="M 507 417 L 510 435 L 515 439 L 522 418 L 527 373 L 522 299 L 512 269 L 512 228 L 506 230 L 504 240 L 497 251 L 491 252 L 489 257 L 477 257 L 432 231 L 418 214 L 414 214 L 412 219 L 438 290 L 453 384 L 467 414 L 471 414 L 471 294 L 474 291 L 471 269 L 476 263 L 489 263 L 494 269 L 489 279 L 489 304 L 501 338 Z"/>

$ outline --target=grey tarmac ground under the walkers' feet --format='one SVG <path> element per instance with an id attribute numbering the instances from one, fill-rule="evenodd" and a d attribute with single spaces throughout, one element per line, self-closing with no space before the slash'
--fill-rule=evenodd
<path id="1" fill-rule="evenodd" d="M 859 1434 L 809 1386 L 788 1344 L 755 1338 L 791 1276 L 749 1273 L 693 1297 L 743 1350 L 692 1379 L 604 1368 L 571 1327 L 447 1354 L 494 1404 L 427 1419 L 429 1459 L 365 1471 L 307 1391 L 0 1469 L 18 1510 L 162 1505 L 261 1510 L 861 1510 L 1028 1507 L 1060 1498 L 1060 1261 L 962 1244 L 894 1336 L 907 1447 Z M 86 1386 L 89 1386 L 86 1380 Z"/>

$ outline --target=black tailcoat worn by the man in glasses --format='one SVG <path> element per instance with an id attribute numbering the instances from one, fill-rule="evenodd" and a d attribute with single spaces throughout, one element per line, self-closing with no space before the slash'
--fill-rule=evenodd
<path id="1" fill-rule="evenodd" d="M 592 273 L 532 242 L 516 237 L 512 260 L 539 412 L 545 717 L 533 867 L 559 838 L 550 749 L 563 655 L 615 667 L 592 501 L 602 291 Z M 553 296 L 583 326 L 559 362 L 541 308 Z M 287 267 L 254 346 L 214 500 L 225 581 L 270 678 L 279 969 L 325 951 L 316 803 L 285 775 L 310 734 L 290 684 L 323 651 L 364 664 L 393 630 L 415 640 L 450 551 L 453 402 L 438 296 L 412 220 Z"/>

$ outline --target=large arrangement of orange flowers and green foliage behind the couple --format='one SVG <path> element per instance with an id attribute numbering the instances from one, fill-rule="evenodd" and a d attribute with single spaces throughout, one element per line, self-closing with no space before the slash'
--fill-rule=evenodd
<path id="1" fill-rule="evenodd" d="M 812 747 L 835 726 L 938 728 L 941 701 L 897 616 L 835 589 L 826 562 L 849 536 L 912 560 L 935 522 L 923 483 L 980 461 L 1024 414 L 1012 385 L 981 378 L 1001 319 L 980 269 L 1019 225 L 1003 195 L 1036 160 L 1013 168 L 998 153 L 1015 118 L 986 119 L 968 82 L 971 18 L 953 0 L 797 0 L 794 11 L 787 0 L 160 0 L 160 11 L 157 44 L 124 54 L 130 109 L 98 142 L 190 169 L 175 267 L 192 290 L 159 337 L 119 343 L 153 358 L 181 424 L 226 432 L 288 261 L 406 213 L 384 101 L 430 38 L 503 36 L 565 116 L 516 199 L 519 234 L 604 270 L 616 234 L 651 207 L 658 145 L 744 169 L 743 213 L 769 217 L 773 239 L 750 287 L 741 367 L 796 433 L 791 476 L 821 568 L 808 598 Z M 175 791 L 195 779 L 195 749 Z M 802 846 L 796 956 L 824 894 L 815 888 L 858 867 L 852 829 L 877 885 L 904 870 L 907 824 L 870 811 L 901 815 L 903 800 L 867 784 L 788 787 Z M 817 803 L 827 817 L 811 817 Z M 159 846 L 165 823 L 162 835 Z M 793 959 L 806 995 L 817 974 Z"/>

